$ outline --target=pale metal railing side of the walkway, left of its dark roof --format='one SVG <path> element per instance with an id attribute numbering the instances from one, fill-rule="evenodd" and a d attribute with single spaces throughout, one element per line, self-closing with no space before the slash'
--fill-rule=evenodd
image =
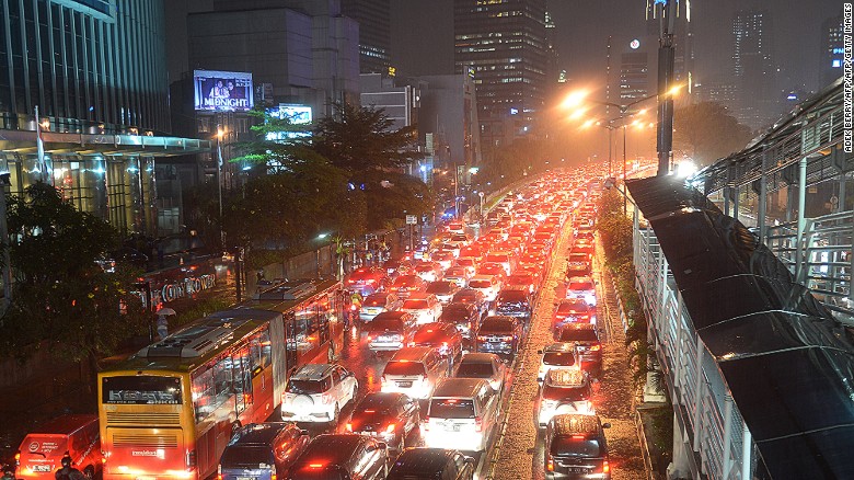
<path id="1" fill-rule="evenodd" d="M 682 438 L 685 448 L 693 453 L 685 456 L 688 465 L 674 464 L 689 470 L 679 475 L 713 480 L 752 479 L 750 431 L 713 356 L 693 329 L 655 232 L 642 227 L 637 218 L 634 252 L 636 285 L 649 319 L 650 341 L 656 347 L 680 431 L 686 433 Z"/>

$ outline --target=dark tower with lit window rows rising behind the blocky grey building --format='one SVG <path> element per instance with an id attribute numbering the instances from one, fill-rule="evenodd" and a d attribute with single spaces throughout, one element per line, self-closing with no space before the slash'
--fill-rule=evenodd
<path id="1" fill-rule="evenodd" d="M 389 73 L 391 0 L 342 0 L 342 13 L 359 22 L 359 71 Z"/>

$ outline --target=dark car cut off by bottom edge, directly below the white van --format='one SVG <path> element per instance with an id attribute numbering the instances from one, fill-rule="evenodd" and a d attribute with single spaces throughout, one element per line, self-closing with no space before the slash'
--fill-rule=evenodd
<path id="1" fill-rule="evenodd" d="M 392 466 L 385 480 L 472 480 L 474 458 L 445 448 L 409 448 Z"/>

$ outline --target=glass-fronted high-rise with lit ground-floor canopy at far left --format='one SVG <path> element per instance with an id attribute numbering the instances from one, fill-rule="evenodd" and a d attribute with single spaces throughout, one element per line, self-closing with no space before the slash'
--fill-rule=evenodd
<path id="1" fill-rule="evenodd" d="M 11 193 L 43 181 L 120 231 L 161 235 L 155 162 L 210 150 L 163 136 L 162 0 L 3 1 L 0 18 L 0 171 Z"/>

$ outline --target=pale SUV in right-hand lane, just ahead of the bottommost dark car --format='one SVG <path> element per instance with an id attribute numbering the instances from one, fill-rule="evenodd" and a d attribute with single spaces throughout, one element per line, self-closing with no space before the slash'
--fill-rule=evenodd
<path id="1" fill-rule="evenodd" d="M 592 395 L 587 372 L 549 370 L 536 400 L 536 424 L 544 427 L 552 416 L 562 413 L 595 415 Z"/>

